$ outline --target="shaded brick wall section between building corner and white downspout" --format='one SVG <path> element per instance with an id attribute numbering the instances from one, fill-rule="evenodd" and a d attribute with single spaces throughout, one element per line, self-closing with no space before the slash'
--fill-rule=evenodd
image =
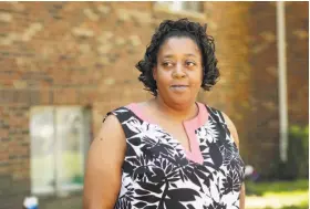
<path id="1" fill-rule="evenodd" d="M 247 157 L 262 175 L 270 175 L 279 156 L 277 13 L 275 2 L 250 7 Z M 264 157 L 262 157 L 264 155 Z"/>

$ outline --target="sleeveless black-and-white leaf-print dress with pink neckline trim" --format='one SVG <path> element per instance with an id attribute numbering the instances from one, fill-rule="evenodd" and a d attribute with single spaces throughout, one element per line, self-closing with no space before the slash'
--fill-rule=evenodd
<path id="1" fill-rule="evenodd" d="M 183 122 L 190 150 L 135 103 L 107 113 L 117 117 L 126 137 L 115 209 L 239 208 L 245 164 L 221 112 L 196 104 L 198 115 Z"/>

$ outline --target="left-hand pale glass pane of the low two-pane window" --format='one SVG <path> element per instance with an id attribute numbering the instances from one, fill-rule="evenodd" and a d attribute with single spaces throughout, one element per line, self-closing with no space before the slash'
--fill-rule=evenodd
<path id="1" fill-rule="evenodd" d="M 52 107 L 30 111 L 31 190 L 51 192 L 54 188 L 54 126 Z"/>

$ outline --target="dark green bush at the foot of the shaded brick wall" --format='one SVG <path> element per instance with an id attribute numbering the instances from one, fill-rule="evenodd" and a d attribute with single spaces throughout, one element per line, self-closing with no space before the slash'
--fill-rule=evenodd
<path id="1" fill-rule="evenodd" d="M 309 127 L 291 126 L 288 139 L 288 160 L 279 163 L 279 179 L 309 177 Z"/>

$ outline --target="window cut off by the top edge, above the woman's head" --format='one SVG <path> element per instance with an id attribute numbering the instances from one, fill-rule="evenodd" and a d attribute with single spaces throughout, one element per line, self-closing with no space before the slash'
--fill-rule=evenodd
<path id="1" fill-rule="evenodd" d="M 156 7 L 168 9 L 170 11 L 203 12 L 203 2 L 200 1 L 157 1 Z"/>

